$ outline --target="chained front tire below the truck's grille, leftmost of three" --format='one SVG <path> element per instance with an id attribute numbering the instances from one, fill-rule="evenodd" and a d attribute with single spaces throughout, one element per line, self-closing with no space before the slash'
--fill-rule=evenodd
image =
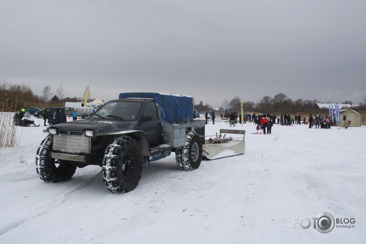
<path id="1" fill-rule="evenodd" d="M 72 162 L 51 159 L 52 136 L 49 135 L 37 149 L 35 163 L 37 174 L 45 182 L 62 182 L 72 178 L 76 165 Z"/>

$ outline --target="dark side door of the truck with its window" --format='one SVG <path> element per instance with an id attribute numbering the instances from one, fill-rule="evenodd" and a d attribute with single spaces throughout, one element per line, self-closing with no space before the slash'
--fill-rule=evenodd
<path id="1" fill-rule="evenodd" d="M 163 125 L 155 102 L 151 101 L 145 104 L 138 129 L 145 132 L 150 146 L 156 146 L 161 143 L 163 139 Z"/>

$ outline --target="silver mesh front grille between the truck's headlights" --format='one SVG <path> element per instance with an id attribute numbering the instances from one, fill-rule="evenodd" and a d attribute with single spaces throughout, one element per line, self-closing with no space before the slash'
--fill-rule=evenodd
<path id="1" fill-rule="evenodd" d="M 53 136 L 53 150 L 69 153 L 91 153 L 91 138 L 84 135 L 59 134 Z"/>

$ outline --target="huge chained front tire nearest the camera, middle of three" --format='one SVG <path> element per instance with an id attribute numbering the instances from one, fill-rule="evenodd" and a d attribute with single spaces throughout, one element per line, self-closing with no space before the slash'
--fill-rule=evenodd
<path id="1" fill-rule="evenodd" d="M 135 189 L 141 179 L 142 168 L 140 144 L 135 139 L 118 137 L 105 149 L 102 175 L 110 191 L 124 193 Z"/>

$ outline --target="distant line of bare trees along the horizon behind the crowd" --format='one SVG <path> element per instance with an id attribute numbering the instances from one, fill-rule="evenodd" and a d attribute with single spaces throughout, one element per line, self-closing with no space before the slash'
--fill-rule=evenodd
<path id="1" fill-rule="evenodd" d="M 94 99 L 88 99 L 88 102 Z M 80 97 L 64 97 L 63 88 L 60 85 L 57 89 L 56 95 L 51 93 L 49 85 L 45 86 L 42 90 L 42 96 L 35 95 L 28 85 L 12 85 L 6 82 L 0 82 L 0 112 L 15 112 L 24 108 L 24 102 L 30 103 L 64 103 L 64 102 L 80 102 L 83 98 Z M 224 99 L 219 112 L 240 112 L 241 111 L 241 98 L 238 96 L 233 97 L 230 101 Z M 293 101 L 288 98 L 284 93 L 276 94 L 274 97 L 264 96 L 258 103 L 252 101 L 244 101 L 243 110 L 244 113 L 262 113 L 262 114 L 304 114 L 304 113 L 324 113 L 325 109 L 315 108 L 315 104 L 321 101 L 318 100 L 303 100 L 297 99 Z M 329 102 L 327 102 L 329 103 Z M 351 101 L 343 101 L 339 103 L 351 104 Z M 200 101 L 195 104 L 195 109 L 199 112 L 208 112 L 213 110 L 213 106 L 210 104 L 204 104 Z M 366 111 L 366 99 L 365 103 L 360 103 L 357 107 L 353 107 L 358 113 Z"/>

